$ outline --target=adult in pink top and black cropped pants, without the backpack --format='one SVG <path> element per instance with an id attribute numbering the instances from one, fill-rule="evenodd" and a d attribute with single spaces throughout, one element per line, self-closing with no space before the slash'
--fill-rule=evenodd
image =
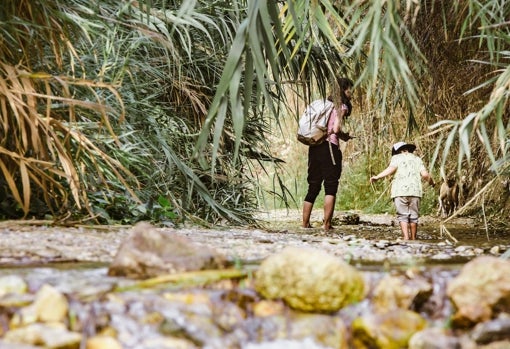
<path id="1" fill-rule="evenodd" d="M 308 148 L 308 192 L 303 203 L 303 228 L 311 228 L 310 215 L 315 199 L 324 185 L 324 230 L 330 230 L 333 211 L 335 209 L 338 183 L 342 174 L 342 152 L 339 148 L 339 140 L 348 141 L 352 137 L 342 131 L 343 121 L 351 115 L 351 88 L 353 83 L 347 78 L 338 78 L 339 100 L 332 96 L 329 101 L 334 103 L 334 108 L 329 115 L 327 123 L 327 138 L 317 145 Z M 336 97 L 336 96 L 335 96 Z"/>

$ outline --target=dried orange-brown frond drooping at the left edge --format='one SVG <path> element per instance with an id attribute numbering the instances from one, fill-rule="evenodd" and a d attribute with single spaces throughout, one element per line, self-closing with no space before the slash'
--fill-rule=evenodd
<path id="1" fill-rule="evenodd" d="M 129 171 L 101 152 L 75 127 L 77 112 L 87 109 L 97 113 L 98 122 L 114 135 L 108 116 L 111 108 L 102 103 L 96 92 L 96 89 L 105 88 L 118 96 L 111 86 L 85 80 L 75 82 L 49 74 L 32 74 L 5 63 L 0 63 L 0 72 L 1 124 L 7 136 L 2 146 L 2 172 L 25 215 L 29 212 L 33 184 L 46 193 L 50 208 L 55 209 L 55 204 L 67 197 L 66 188 L 78 208 L 88 207 L 83 178 L 77 170 L 79 159 L 73 159 L 73 153 L 99 156 L 95 169 L 110 167 L 117 178 L 127 184 L 124 177 L 130 175 Z M 72 98 L 70 90 L 81 88 L 90 91 L 97 100 L 90 102 Z M 62 96 L 52 91 L 60 91 Z M 20 181 L 13 181 L 12 178 L 17 176 L 20 176 Z M 23 195 L 19 195 L 19 190 Z M 134 192 L 131 193 L 136 197 Z"/>

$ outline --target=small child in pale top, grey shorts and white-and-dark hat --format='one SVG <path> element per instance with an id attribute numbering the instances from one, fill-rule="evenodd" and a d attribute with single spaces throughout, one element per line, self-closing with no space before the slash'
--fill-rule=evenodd
<path id="1" fill-rule="evenodd" d="M 423 196 L 421 180 L 434 186 L 434 180 L 425 169 L 423 161 L 413 154 L 416 146 L 405 142 L 395 143 L 391 149 L 389 166 L 381 173 L 370 178 L 373 183 L 381 178 L 395 174 L 391 185 L 391 198 L 397 211 L 397 220 L 404 240 L 416 240 L 420 201 Z"/>

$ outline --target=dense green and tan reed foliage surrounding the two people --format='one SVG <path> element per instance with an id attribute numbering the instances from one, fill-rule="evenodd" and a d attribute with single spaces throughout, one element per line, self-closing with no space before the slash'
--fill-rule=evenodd
<path id="1" fill-rule="evenodd" d="M 340 74 L 356 80 L 367 173 L 412 139 L 444 176 L 483 174 L 479 190 L 508 197 L 504 1 L 1 6 L 3 218 L 253 222 L 258 179 L 282 165 L 268 135 Z"/>

